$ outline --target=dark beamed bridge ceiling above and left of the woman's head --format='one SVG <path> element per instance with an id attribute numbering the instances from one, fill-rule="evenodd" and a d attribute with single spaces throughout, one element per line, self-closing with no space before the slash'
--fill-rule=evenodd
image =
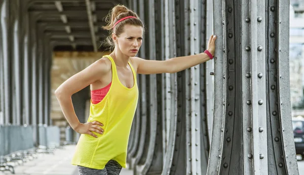
<path id="1" fill-rule="evenodd" d="M 55 51 L 97 51 L 103 49 L 100 44 L 108 35 L 101 28 L 104 17 L 117 4 L 127 5 L 127 1 L 28 0 L 25 10 L 30 24 L 36 23 L 50 42 L 56 43 Z"/>

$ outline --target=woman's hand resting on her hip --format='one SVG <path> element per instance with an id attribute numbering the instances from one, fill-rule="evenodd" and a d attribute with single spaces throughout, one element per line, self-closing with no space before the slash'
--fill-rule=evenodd
<path id="1" fill-rule="evenodd" d="M 79 123 L 74 130 L 79 134 L 88 134 L 97 138 L 97 136 L 93 134 L 92 131 L 94 131 L 95 133 L 103 134 L 103 129 L 101 127 L 103 127 L 102 123 L 94 121 L 85 124 Z"/>

